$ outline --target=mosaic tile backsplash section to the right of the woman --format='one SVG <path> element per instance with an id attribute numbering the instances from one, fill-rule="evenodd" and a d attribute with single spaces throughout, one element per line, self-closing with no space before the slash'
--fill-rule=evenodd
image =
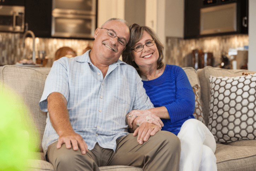
<path id="1" fill-rule="evenodd" d="M 193 66 L 192 50 L 202 49 L 203 52 L 213 53 L 214 66 L 218 67 L 221 63 L 221 55 L 227 54 L 229 48 L 244 47 L 248 44 L 248 35 L 213 36 L 187 40 L 167 37 L 164 61 L 167 64 L 181 67 Z"/>

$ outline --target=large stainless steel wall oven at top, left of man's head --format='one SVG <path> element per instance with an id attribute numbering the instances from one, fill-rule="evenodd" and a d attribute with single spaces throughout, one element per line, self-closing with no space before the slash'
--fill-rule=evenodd
<path id="1" fill-rule="evenodd" d="M 93 38 L 96 0 L 53 0 L 52 9 L 52 37 Z"/>

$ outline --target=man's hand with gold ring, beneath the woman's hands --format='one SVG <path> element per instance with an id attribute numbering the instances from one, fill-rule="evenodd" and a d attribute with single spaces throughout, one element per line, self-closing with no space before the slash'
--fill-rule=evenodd
<path id="1" fill-rule="evenodd" d="M 140 145 L 149 140 L 150 136 L 155 135 L 161 129 L 154 124 L 144 122 L 133 133 L 133 136 L 137 136 L 137 141 Z"/>

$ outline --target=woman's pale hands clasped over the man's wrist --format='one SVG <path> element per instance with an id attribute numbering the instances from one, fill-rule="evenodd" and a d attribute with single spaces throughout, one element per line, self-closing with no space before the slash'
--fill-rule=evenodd
<path id="1" fill-rule="evenodd" d="M 135 120 L 136 119 L 136 120 Z M 126 123 L 133 128 L 133 122 L 140 126 L 144 122 L 157 125 L 160 129 L 164 126 L 162 120 L 149 110 L 133 110 L 126 115 Z"/>

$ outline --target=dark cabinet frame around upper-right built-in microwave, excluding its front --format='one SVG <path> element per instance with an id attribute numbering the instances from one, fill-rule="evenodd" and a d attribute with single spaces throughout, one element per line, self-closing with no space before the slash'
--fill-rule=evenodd
<path id="1" fill-rule="evenodd" d="M 236 3 L 236 31 L 200 35 L 200 9 Z M 185 0 L 184 39 L 230 34 L 248 34 L 248 0 Z M 225 17 L 225 16 L 224 16 Z M 216 28 L 219 30 L 219 28 Z M 202 30 L 201 30 L 202 31 Z"/>

